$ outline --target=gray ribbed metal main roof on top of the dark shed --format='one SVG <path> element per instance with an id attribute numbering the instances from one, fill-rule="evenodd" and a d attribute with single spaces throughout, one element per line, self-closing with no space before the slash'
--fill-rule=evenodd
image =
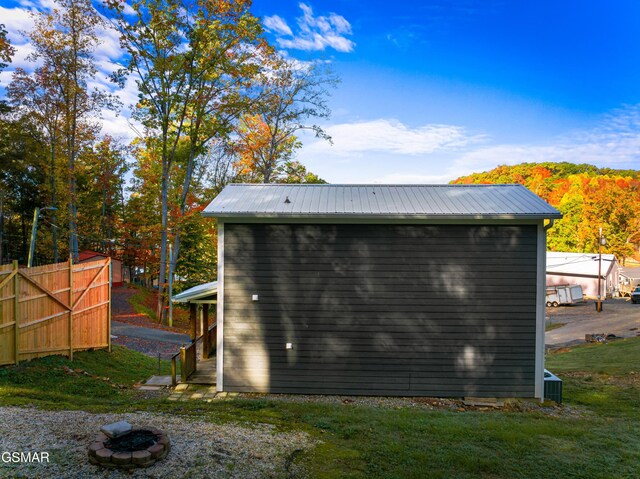
<path id="1" fill-rule="evenodd" d="M 522 185 L 230 184 L 205 208 L 215 218 L 561 218 Z"/>

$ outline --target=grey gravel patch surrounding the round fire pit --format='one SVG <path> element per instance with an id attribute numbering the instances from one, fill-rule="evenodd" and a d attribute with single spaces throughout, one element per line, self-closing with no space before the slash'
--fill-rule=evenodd
<path id="1" fill-rule="evenodd" d="M 151 425 L 169 434 L 171 452 L 163 461 L 133 472 L 89 464 L 87 446 L 100 427 L 118 420 Z M 0 407 L 0 453 L 48 452 L 49 463 L 0 461 L 0 477 L 51 478 L 299 478 L 292 458 L 313 447 L 302 432 L 277 432 L 261 424 L 244 428 L 152 413 L 90 414 Z"/>

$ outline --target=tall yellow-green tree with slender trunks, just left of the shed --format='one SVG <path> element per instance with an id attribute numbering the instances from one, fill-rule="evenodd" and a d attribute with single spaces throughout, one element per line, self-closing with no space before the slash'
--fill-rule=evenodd
<path id="1" fill-rule="evenodd" d="M 146 128 L 148 147 L 156 151 L 162 166 L 158 317 L 164 321 L 169 189 L 178 150 L 186 141 L 179 200 L 184 213 L 196 159 L 246 108 L 243 90 L 261 68 L 257 57 L 269 49 L 260 36 L 259 20 L 249 12 L 248 0 L 139 0 L 132 4 L 136 16 L 132 22 L 124 5 L 118 0 L 107 2 L 129 55 L 126 68 L 115 79 L 122 82 L 124 75 L 135 75 L 136 115 Z"/>

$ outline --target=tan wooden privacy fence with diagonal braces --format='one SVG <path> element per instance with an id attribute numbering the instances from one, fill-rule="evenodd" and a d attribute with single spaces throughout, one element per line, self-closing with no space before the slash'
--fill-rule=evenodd
<path id="1" fill-rule="evenodd" d="M 111 259 L 0 266 L 0 365 L 111 349 Z"/>

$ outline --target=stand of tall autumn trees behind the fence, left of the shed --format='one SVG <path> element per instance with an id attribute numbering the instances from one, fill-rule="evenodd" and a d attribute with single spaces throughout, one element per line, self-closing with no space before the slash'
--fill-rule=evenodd
<path id="1" fill-rule="evenodd" d="M 34 14 L 29 71 L 17 68 L 0 112 L 0 263 L 34 264 L 91 249 L 120 257 L 164 292 L 211 281 L 216 228 L 200 211 L 229 182 L 322 182 L 295 160 L 296 136 L 329 116 L 337 79 L 265 39 L 248 0 L 56 0 Z M 100 32 L 122 49 L 112 86 L 97 81 Z M 0 68 L 14 50 L 0 31 Z M 133 142 L 101 115 L 137 85 Z M 180 287 L 180 286 L 178 286 Z M 160 294 L 158 313 L 164 317 Z"/>

